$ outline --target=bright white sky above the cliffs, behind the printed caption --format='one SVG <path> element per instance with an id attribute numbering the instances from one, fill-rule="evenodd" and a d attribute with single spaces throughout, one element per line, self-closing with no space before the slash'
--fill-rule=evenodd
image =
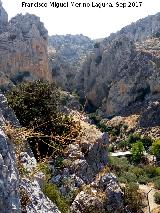
<path id="1" fill-rule="evenodd" d="M 69 2 L 68 8 L 53 8 L 50 2 Z M 3 7 L 8 13 L 9 19 L 18 13 L 26 12 L 40 17 L 48 30 L 49 35 L 83 34 L 92 39 L 104 38 L 122 27 L 160 12 L 160 0 L 2 0 Z M 47 3 L 46 8 L 22 7 L 25 3 Z M 81 3 L 81 7 L 72 7 L 71 2 Z M 113 8 L 82 7 L 83 3 L 95 6 L 96 3 L 112 3 Z M 135 3 L 141 7 L 115 7 L 116 2 Z"/>

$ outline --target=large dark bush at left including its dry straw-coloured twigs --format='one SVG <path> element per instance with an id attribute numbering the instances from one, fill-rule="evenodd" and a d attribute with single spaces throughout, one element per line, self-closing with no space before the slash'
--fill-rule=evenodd
<path id="1" fill-rule="evenodd" d="M 7 100 L 20 124 L 39 133 L 28 139 L 37 159 L 62 155 L 66 145 L 79 134 L 80 125 L 60 112 L 60 93 L 54 83 L 35 81 L 17 85 L 8 92 Z"/>

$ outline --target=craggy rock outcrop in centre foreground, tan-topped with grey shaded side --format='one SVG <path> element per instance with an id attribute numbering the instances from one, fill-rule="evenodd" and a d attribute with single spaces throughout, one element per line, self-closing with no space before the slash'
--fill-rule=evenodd
<path id="1" fill-rule="evenodd" d="M 65 150 L 61 169 L 51 162 L 51 182 L 64 197 L 72 197 L 72 213 L 121 212 L 123 194 L 107 167 L 108 134 L 89 124 L 85 116 L 74 112 L 74 117 L 80 120 L 83 135 Z"/>

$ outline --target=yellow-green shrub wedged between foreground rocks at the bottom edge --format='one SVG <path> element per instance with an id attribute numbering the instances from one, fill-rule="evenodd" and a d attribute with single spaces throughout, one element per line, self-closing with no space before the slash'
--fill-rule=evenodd
<path id="1" fill-rule="evenodd" d="M 51 183 L 45 183 L 42 188 L 43 193 L 57 205 L 58 209 L 62 213 L 66 213 L 69 210 L 69 204 L 64 197 L 61 196 L 57 186 Z"/>

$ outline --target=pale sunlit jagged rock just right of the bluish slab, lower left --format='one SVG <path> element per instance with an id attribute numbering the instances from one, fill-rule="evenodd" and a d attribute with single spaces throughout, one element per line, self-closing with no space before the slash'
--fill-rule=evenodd
<path id="1" fill-rule="evenodd" d="M 28 153 L 22 152 L 20 155 L 26 171 L 31 172 L 37 166 L 36 159 Z M 43 185 L 44 174 L 39 172 L 35 174 L 34 179 L 30 181 L 27 177 L 21 178 L 20 190 L 24 191 L 28 197 L 26 206 L 22 206 L 23 211 L 36 213 L 60 213 L 57 206 L 54 205 L 42 192 L 40 185 Z M 42 183 L 41 183 L 42 182 Z"/>

